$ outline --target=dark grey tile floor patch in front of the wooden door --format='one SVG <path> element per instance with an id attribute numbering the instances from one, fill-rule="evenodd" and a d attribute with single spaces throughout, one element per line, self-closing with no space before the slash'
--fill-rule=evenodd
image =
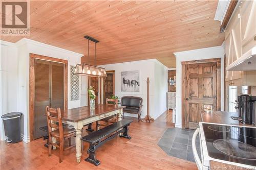
<path id="1" fill-rule="evenodd" d="M 195 162 L 192 152 L 192 136 L 195 130 L 169 128 L 158 142 L 159 147 L 169 156 Z M 197 152 L 200 155 L 199 136 L 196 139 Z"/>

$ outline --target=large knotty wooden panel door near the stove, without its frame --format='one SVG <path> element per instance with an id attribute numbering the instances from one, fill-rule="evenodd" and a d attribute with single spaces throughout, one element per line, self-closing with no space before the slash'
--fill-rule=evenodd
<path id="1" fill-rule="evenodd" d="M 198 127 L 204 105 L 217 110 L 217 62 L 185 65 L 185 128 Z"/>

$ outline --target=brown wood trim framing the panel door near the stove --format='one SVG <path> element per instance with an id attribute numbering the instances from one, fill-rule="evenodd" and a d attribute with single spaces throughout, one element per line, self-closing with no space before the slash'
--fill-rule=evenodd
<path id="1" fill-rule="evenodd" d="M 221 109 L 221 58 L 206 59 L 206 60 L 194 60 L 194 61 L 183 61 L 182 64 L 182 90 L 181 90 L 181 118 L 182 118 L 182 128 L 185 128 L 185 65 L 187 64 L 199 64 L 217 62 L 217 110 Z"/>

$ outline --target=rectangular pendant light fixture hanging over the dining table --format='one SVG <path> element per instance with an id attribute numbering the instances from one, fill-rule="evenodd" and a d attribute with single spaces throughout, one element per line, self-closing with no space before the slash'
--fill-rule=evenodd
<path id="1" fill-rule="evenodd" d="M 89 40 L 94 42 L 94 65 L 77 64 L 73 74 L 88 76 L 88 77 L 106 77 L 105 68 L 96 66 L 96 43 L 98 43 L 99 41 L 88 35 L 84 36 L 84 38 L 88 39 L 88 57 L 89 57 Z"/>

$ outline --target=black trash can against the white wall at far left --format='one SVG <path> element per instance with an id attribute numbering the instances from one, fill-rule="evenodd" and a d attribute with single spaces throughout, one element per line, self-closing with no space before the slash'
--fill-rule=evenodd
<path id="1" fill-rule="evenodd" d="M 7 143 L 17 143 L 20 138 L 20 117 L 22 113 L 11 112 L 1 116 L 4 122 L 5 135 L 8 137 L 5 141 Z"/>

